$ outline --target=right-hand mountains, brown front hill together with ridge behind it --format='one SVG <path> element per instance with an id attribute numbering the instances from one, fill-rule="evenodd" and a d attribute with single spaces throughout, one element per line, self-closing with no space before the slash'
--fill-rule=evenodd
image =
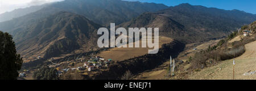
<path id="1" fill-rule="evenodd" d="M 158 12 L 142 14 L 121 26 L 159 27 L 161 36 L 189 43 L 227 36 L 242 25 L 255 20 L 255 15 L 244 11 L 221 10 L 184 3 Z"/>

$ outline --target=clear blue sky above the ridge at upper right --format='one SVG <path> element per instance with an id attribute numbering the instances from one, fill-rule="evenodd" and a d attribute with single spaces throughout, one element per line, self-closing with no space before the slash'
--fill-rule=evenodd
<path id="1" fill-rule="evenodd" d="M 201 5 L 206 7 L 216 7 L 224 10 L 242 10 L 251 14 L 256 14 L 256 0 L 125 0 L 140 2 L 163 3 L 167 6 L 176 6 L 181 3 L 191 5 Z"/>

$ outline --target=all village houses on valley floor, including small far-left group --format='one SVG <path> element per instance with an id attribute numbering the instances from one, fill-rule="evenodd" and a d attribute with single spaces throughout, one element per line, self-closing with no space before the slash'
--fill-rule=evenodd
<path id="1" fill-rule="evenodd" d="M 56 68 L 56 74 L 60 77 L 65 72 L 69 70 L 75 71 L 77 70 L 84 75 L 88 75 L 89 72 L 97 72 L 101 70 L 106 70 L 111 63 L 113 63 L 112 59 L 104 59 L 100 56 L 90 57 L 90 58 L 76 58 L 74 60 L 67 60 L 66 62 L 54 63 L 55 58 L 51 58 L 48 60 L 51 64 L 48 65 L 49 68 Z M 64 66 L 68 64 L 68 66 Z M 27 77 L 27 73 L 30 73 L 28 70 L 24 70 L 19 73 L 19 77 Z"/>

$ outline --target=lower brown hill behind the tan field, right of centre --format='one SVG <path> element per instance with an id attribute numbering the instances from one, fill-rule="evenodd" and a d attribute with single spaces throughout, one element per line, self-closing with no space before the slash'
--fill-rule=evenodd
<path id="1" fill-rule="evenodd" d="M 119 27 L 124 28 L 159 28 L 159 35 L 178 39 L 179 41 L 196 40 L 198 36 L 193 31 L 187 31 L 184 25 L 178 23 L 171 18 L 163 15 L 146 12 L 138 18 L 135 18 L 127 23 L 122 23 Z"/>

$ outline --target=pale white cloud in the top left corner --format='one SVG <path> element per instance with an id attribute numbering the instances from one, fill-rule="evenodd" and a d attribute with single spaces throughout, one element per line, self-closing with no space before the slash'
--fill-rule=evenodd
<path id="1" fill-rule="evenodd" d="M 6 11 L 15 10 L 17 8 L 25 8 L 57 1 L 64 0 L 0 0 L 0 14 Z"/>

